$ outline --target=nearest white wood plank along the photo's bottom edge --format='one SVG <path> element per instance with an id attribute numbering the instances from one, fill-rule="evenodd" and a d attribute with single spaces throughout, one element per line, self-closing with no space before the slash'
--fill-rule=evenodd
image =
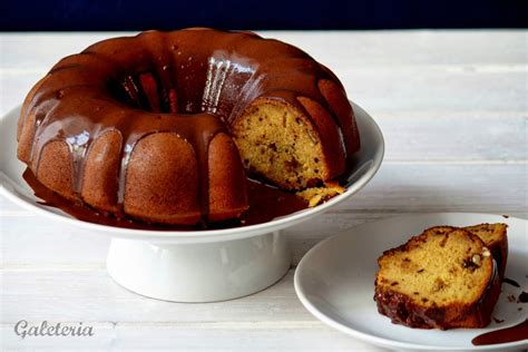
<path id="1" fill-rule="evenodd" d="M 212 325 L 212 326 L 209 326 Z M 250 323 L 222 327 L 215 324 L 94 324 L 91 338 L 27 338 L 20 340 L 11 326 L 0 329 L 6 349 L 50 349 L 51 351 L 156 350 L 156 351 L 388 351 L 353 340 L 319 322 Z M 299 326 L 299 327 L 297 327 Z"/>

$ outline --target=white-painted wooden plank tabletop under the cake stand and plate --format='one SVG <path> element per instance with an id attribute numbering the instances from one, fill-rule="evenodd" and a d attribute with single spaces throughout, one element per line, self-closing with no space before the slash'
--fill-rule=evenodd
<path id="1" fill-rule="evenodd" d="M 286 231 L 294 262 L 274 286 L 239 300 L 182 304 L 116 284 L 109 238 L 0 196 L 1 350 L 167 349 L 381 351 L 313 317 L 293 274 L 313 245 L 365 222 L 423 212 L 527 218 L 527 31 L 263 32 L 330 67 L 387 143 L 374 179 L 330 213 Z M 60 58 L 116 33 L 0 35 L 0 115 Z M 90 338 L 26 338 L 26 320 L 84 322 Z"/>

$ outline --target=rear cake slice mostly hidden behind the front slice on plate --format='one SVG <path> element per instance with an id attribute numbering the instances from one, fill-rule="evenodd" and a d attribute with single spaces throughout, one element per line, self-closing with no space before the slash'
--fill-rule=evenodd
<path id="1" fill-rule="evenodd" d="M 497 262 L 499 277 L 505 277 L 506 263 L 508 260 L 508 237 L 506 224 L 480 224 L 463 227 L 482 239 L 486 247 L 491 252 L 491 256 Z"/>

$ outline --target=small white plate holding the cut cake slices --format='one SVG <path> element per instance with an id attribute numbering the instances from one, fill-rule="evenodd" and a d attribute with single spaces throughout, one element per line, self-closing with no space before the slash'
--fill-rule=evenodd
<path id="1" fill-rule="evenodd" d="M 467 226 L 480 223 L 508 224 L 509 254 L 506 277 L 521 287 L 502 284 L 502 292 L 486 329 L 422 330 L 392 324 L 378 313 L 374 275 L 383 251 L 405 243 L 412 235 L 436 225 Z M 317 319 L 369 343 L 404 350 L 506 350 L 527 348 L 528 341 L 475 346 L 471 340 L 485 332 L 522 322 L 528 304 L 509 302 L 528 291 L 528 223 L 488 214 L 431 213 L 369 223 L 332 236 L 313 247 L 295 272 L 295 291 Z M 522 306 L 521 311 L 518 307 Z"/>

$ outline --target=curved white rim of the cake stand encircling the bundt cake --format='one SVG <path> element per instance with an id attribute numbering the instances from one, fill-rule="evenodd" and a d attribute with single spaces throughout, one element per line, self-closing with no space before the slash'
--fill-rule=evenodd
<path id="1" fill-rule="evenodd" d="M 329 211 L 330 208 L 336 206 L 343 201 L 350 198 L 352 195 L 356 194 L 361 188 L 363 188 L 378 173 L 381 167 L 383 156 L 384 156 L 384 138 L 381 131 L 381 128 L 375 123 L 375 120 L 358 104 L 350 100 L 353 106 L 354 115 L 360 127 L 360 135 L 362 135 L 363 146 L 366 141 L 375 140 L 377 145 L 370 145 L 371 148 L 374 148 L 372 155 L 368 155 L 368 162 L 361 165 L 360 168 L 366 167 L 355 182 L 348 185 L 348 189 L 341 194 L 330 199 L 329 202 L 317 205 L 313 208 L 303 209 L 286 216 L 272 219 L 266 223 L 248 225 L 243 227 L 235 228 L 223 228 L 223 229 L 205 229 L 205 231 L 155 231 L 155 229 L 135 229 L 135 228 L 121 228 L 107 226 L 101 224 L 95 224 L 89 222 L 84 222 L 77 218 L 69 216 L 66 213 L 59 214 L 46 209 L 42 206 L 37 205 L 37 202 L 30 201 L 21 197 L 21 195 L 14 189 L 14 187 L 28 187 L 27 184 L 17 183 L 11 177 L 8 176 L 6 172 L 10 172 L 9 168 L 12 168 L 12 164 L 17 162 L 20 166 L 25 167 L 25 164 L 17 159 L 13 150 L 17 147 L 16 134 L 4 126 L 9 123 L 13 126 L 17 124 L 13 120 L 18 120 L 19 111 L 21 106 L 17 106 L 6 115 L 1 117 L 2 128 L 0 129 L 0 137 L 8 145 L 7 148 L 1 148 L 0 151 L 0 194 L 3 194 L 13 203 L 20 205 L 21 207 L 41 214 L 43 216 L 67 223 L 69 225 L 81 227 L 85 229 L 90 229 L 94 233 L 101 235 L 110 235 L 113 237 L 120 237 L 126 239 L 138 239 L 138 241 L 148 241 L 153 243 L 201 243 L 201 242 L 223 242 L 229 239 L 239 239 L 252 236 L 262 235 L 265 233 L 274 232 L 291 227 L 293 225 L 300 224 L 307 219 L 313 218 L 314 216 L 321 215 L 322 213 Z M 8 126 L 9 127 L 9 126 Z M 365 131 L 361 131 L 361 128 L 366 128 L 370 130 L 369 138 L 364 138 Z M 365 141 L 366 140 L 366 141 Z M 11 153 L 9 153 L 11 151 Z M 9 163 L 7 163 L 9 160 Z M 12 169 L 11 169 L 12 172 Z"/>

